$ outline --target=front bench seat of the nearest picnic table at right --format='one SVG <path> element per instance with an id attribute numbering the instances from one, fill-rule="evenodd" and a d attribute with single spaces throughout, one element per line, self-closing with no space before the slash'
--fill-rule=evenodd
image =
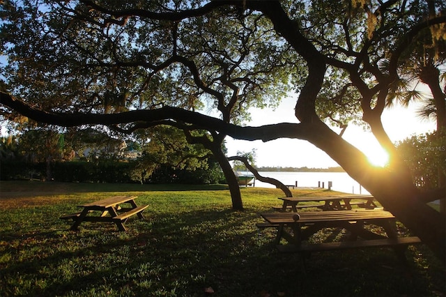
<path id="1" fill-rule="evenodd" d="M 421 243 L 417 236 L 401 238 L 373 239 L 367 241 L 341 241 L 333 243 L 314 243 L 297 245 L 277 245 L 279 252 L 324 252 L 330 250 L 346 250 L 354 248 L 379 248 L 396 247 L 398 245 L 410 245 Z"/>

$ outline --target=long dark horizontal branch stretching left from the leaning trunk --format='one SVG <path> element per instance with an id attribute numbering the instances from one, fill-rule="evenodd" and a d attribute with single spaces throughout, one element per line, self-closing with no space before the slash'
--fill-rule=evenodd
<path id="1" fill-rule="evenodd" d="M 212 116 L 191 112 L 177 107 L 161 107 L 159 109 L 137 109 L 130 112 L 116 114 L 92 114 L 92 113 L 63 113 L 47 112 L 25 102 L 13 98 L 9 93 L 0 91 L 0 103 L 14 109 L 23 116 L 34 121 L 74 127 L 77 125 L 116 125 L 135 123 L 135 125 L 151 125 L 151 122 L 164 120 L 183 121 L 191 123 L 203 130 L 217 130 L 237 139 L 258 140 L 268 142 L 281 137 L 299 138 L 308 140 L 314 136 L 312 125 L 305 123 L 279 123 L 275 125 L 263 125 L 260 127 L 241 127 L 231 123 L 225 123 Z M 138 123 L 144 122 L 144 123 Z"/>

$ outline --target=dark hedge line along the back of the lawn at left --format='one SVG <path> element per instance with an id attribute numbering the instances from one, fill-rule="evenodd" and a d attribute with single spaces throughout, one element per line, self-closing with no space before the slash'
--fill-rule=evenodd
<path id="1" fill-rule="evenodd" d="M 0 180 L 33 180 L 78 182 L 78 183 L 184 183 L 210 184 L 225 183 L 220 167 L 209 165 L 208 169 L 177 169 L 160 165 L 141 181 L 141 174 L 134 169 L 138 161 L 116 162 L 98 160 L 97 162 L 23 162 L 1 161 Z M 49 177 L 48 177 L 49 176 Z"/>

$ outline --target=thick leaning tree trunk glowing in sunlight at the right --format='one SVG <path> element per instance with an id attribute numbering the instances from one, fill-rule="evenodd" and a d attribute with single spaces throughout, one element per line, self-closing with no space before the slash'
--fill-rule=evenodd
<path id="1" fill-rule="evenodd" d="M 422 193 L 413 185 L 405 170 L 372 167 L 363 153 L 325 125 L 318 125 L 313 135 L 310 142 L 328 153 L 380 204 L 419 236 L 443 263 L 446 261 L 445 215 L 423 201 Z"/>

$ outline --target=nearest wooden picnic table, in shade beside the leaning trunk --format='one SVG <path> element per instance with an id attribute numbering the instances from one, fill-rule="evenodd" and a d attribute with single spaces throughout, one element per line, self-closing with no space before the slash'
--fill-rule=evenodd
<path id="1" fill-rule="evenodd" d="M 399 257 L 408 244 L 420 243 L 420 238 L 398 237 L 395 218 L 392 213 L 377 210 L 358 209 L 354 211 L 303 211 L 301 213 L 274 212 L 261 216 L 277 227 L 276 243 L 282 252 L 319 252 L 346 248 L 393 247 Z M 366 224 L 383 227 L 386 236 L 365 228 Z M 309 243 L 309 238 L 319 230 L 341 227 L 350 231 L 347 241 Z M 285 245 L 280 245 L 282 239 Z M 360 240 L 358 240 L 360 239 Z M 399 248 L 397 248 L 399 247 Z"/>

